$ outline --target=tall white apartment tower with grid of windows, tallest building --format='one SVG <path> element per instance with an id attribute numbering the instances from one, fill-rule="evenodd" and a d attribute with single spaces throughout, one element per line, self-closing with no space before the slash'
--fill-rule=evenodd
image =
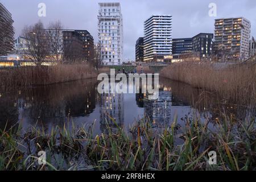
<path id="1" fill-rule="evenodd" d="M 98 45 L 104 65 L 123 63 L 123 17 L 120 3 L 99 3 Z"/>

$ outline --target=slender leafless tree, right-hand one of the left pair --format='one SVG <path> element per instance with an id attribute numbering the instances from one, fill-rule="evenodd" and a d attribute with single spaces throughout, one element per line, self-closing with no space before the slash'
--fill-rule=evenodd
<path id="1" fill-rule="evenodd" d="M 48 39 L 49 50 L 51 52 L 51 59 L 57 62 L 63 61 L 63 24 L 60 20 L 49 23 Z"/>

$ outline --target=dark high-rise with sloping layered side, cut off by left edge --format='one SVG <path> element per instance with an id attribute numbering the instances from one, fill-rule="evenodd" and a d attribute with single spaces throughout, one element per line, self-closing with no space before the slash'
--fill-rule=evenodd
<path id="1" fill-rule="evenodd" d="M 0 3 L 0 56 L 14 51 L 14 28 L 11 13 Z"/>

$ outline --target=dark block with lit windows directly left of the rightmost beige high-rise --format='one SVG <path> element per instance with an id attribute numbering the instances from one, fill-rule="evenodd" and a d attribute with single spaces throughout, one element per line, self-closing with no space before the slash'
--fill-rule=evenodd
<path id="1" fill-rule="evenodd" d="M 192 51 L 200 57 L 209 57 L 213 52 L 213 34 L 200 33 L 192 38 Z"/>

